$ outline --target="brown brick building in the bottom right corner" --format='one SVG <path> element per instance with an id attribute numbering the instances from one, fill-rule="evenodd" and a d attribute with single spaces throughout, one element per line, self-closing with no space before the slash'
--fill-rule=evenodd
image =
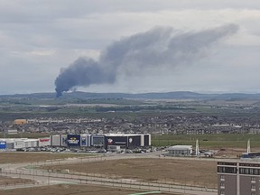
<path id="1" fill-rule="evenodd" d="M 260 194 L 260 162 L 218 162 L 218 195 Z"/>

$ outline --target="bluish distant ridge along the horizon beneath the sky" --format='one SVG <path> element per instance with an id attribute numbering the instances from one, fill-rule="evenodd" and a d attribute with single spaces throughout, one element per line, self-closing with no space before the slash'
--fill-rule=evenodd
<path id="1" fill-rule="evenodd" d="M 32 94 L 15 94 L 0 95 L 0 98 L 56 98 L 56 93 L 32 93 Z M 125 98 L 125 99 L 198 99 L 198 100 L 243 100 L 243 99 L 260 99 L 260 94 L 244 93 L 225 93 L 225 94 L 201 94 L 190 91 L 175 91 L 166 93 L 89 93 L 74 91 L 64 93 L 60 99 L 79 98 L 79 99 L 96 99 L 96 98 Z"/>

